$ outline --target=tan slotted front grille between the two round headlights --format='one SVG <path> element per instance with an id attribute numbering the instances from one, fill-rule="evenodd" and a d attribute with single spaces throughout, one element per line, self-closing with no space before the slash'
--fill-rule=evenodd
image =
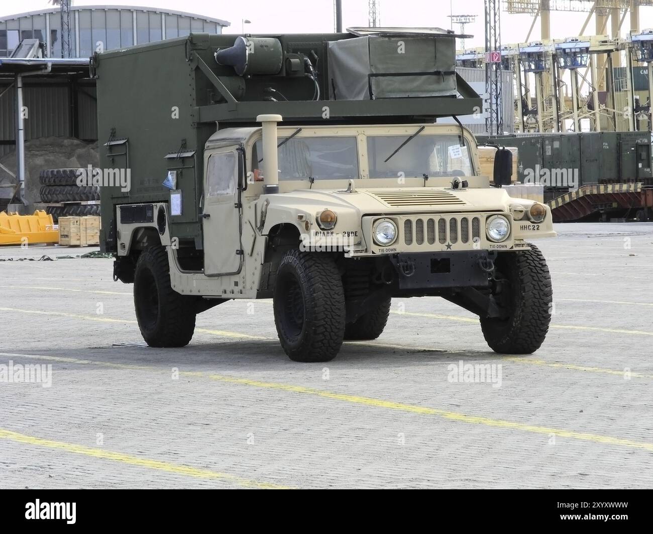
<path id="1" fill-rule="evenodd" d="M 426 224 L 424 221 L 426 220 Z M 470 235 L 471 220 L 471 235 Z M 437 221 L 437 224 L 436 224 Z M 426 227 L 426 228 L 424 228 Z M 469 215 L 429 217 L 422 219 L 404 219 L 404 243 L 406 245 L 433 245 L 440 243 L 468 244 L 478 242 L 481 238 L 481 218 Z"/>

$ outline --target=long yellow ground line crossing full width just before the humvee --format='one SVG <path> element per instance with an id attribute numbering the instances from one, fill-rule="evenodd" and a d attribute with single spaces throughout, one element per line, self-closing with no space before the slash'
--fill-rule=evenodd
<path id="1" fill-rule="evenodd" d="M 3 354 L 3 353 L 0 353 Z M 20 356 L 20 354 L 14 354 L 13 356 Z M 25 357 L 40 358 L 36 354 L 23 354 Z M 54 360 L 56 356 L 46 356 L 44 359 Z M 63 358 L 62 358 L 63 359 Z M 65 358 L 67 361 L 77 362 L 77 363 L 86 363 L 89 360 L 74 360 L 74 358 Z M 107 362 L 89 362 L 98 366 L 104 366 Z M 120 366 L 121 364 L 110 364 L 111 367 Z M 161 369 L 151 368 L 153 371 L 161 371 Z M 390 400 L 381 400 L 370 397 L 362 397 L 351 394 L 336 393 L 327 390 L 320 390 L 316 388 L 309 388 L 306 386 L 298 386 L 291 384 L 283 384 L 276 382 L 264 382 L 259 380 L 233 377 L 227 375 L 219 375 L 215 373 L 206 373 L 204 371 L 180 371 L 180 375 L 189 376 L 189 377 L 204 377 L 214 381 L 219 381 L 223 383 L 251 386 L 255 388 L 266 388 L 278 391 L 284 391 L 289 393 L 304 394 L 309 396 L 315 396 L 319 398 L 325 398 L 329 400 L 343 401 L 350 404 L 364 405 L 381 409 L 389 409 L 394 411 L 402 411 L 406 413 L 415 413 L 419 415 L 431 415 L 438 416 L 447 420 L 453 420 L 458 422 L 465 422 L 470 424 L 480 424 L 482 426 L 490 426 L 493 428 L 507 428 L 511 430 L 520 430 L 522 432 L 530 432 L 537 434 L 554 434 L 559 437 L 569 437 L 571 439 L 579 439 L 582 441 L 592 441 L 594 443 L 603 443 L 605 445 L 618 445 L 620 447 L 629 447 L 629 448 L 639 448 L 643 450 L 648 450 L 653 452 L 653 443 L 647 443 L 645 441 L 634 441 L 631 439 L 613 437 L 601 434 L 594 434 L 588 432 L 576 432 L 574 430 L 565 430 L 562 428 L 551 428 L 548 426 L 539 426 L 526 423 L 520 423 L 516 421 L 507 421 L 502 419 L 493 419 L 489 417 L 469 415 L 465 413 L 458 413 L 449 410 L 443 410 L 438 408 L 432 408 L 428 406 L 419 406 L 414 404 L 407 404 L 402 402 L 390 401 Z M 104 452 L 104 451 L 102 451 Z"/>

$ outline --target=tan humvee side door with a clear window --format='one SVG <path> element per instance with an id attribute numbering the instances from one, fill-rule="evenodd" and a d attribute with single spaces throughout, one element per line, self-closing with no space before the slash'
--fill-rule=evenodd
<path id="1" fill-rule="evenodd" d="M 219 148 L 205 155 L 204 274 L 238 274 L 243 255 L 240 246 L 240 209 L 238 204 L 237 147 Z"/>

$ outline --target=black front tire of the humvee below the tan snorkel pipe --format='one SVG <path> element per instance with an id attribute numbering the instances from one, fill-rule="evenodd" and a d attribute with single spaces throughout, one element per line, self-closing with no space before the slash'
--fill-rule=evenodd
<path id="1" fill-rule="evenodd" d="M 345 334 L 345 293 L 327 253 L 291 250 L 274 285 L 274 322 L 281 347 L 295 362 L 328 362 Z"/>

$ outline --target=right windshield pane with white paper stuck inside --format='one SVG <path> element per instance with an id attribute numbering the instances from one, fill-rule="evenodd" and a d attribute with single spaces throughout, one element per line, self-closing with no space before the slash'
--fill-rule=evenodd
<path id="1" fill-rule="evenodd" d="M 473 175 L 470 150 L 462 136 L 418 134 L 397 150 L 407 138 L 409 135 L 367 138 L 370 178 Z"/>

